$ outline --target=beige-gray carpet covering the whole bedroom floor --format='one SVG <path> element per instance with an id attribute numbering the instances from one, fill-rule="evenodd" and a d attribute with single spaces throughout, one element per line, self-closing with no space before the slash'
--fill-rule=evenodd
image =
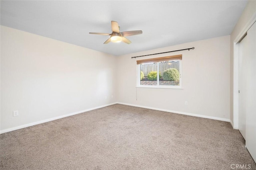
<path id="1" fill-rule="evenodd" d="M 1 170 L 228 170 L 256 164 L 228 122 L 115 104 L 0 135 Z"/>

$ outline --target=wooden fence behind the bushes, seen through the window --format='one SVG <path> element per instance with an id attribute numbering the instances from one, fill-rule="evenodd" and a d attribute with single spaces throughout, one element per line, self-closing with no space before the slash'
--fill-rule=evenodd
<path id="1" fill-rule="evenodd" d="M 168 68 L 176 68 L 180 72 L 180 61 L 159 63 L 159 71 L 161 73 L 161 76 L 163 76 L 164 71 Z M 157 64 L 141 64 L 140 70 L 144 73 L 144 76 L 146 77 L 150 71 L 157 71 Z"/>

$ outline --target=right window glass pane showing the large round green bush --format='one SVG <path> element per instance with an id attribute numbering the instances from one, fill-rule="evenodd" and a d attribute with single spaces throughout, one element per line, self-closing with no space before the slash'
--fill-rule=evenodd
<path id="1" fill-rule="evenodd" d="M 159 62 L 159 85 L 180 85 L 180 60 Z"/>

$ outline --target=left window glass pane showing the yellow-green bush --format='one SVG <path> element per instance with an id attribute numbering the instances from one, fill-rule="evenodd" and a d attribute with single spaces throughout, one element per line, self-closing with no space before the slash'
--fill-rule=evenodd
<path id="1" fill-rule="evenodd" d="M 157 85 L 157 63 L 140 64 L 140 85 Z"/>

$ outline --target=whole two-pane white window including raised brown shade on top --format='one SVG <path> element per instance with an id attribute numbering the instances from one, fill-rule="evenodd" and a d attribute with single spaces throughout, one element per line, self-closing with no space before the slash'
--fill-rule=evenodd
<path id="1" fill-rule="evenodd" d="M 182 55 L 137 61 L 138 87 L 181 88 Z"/>

